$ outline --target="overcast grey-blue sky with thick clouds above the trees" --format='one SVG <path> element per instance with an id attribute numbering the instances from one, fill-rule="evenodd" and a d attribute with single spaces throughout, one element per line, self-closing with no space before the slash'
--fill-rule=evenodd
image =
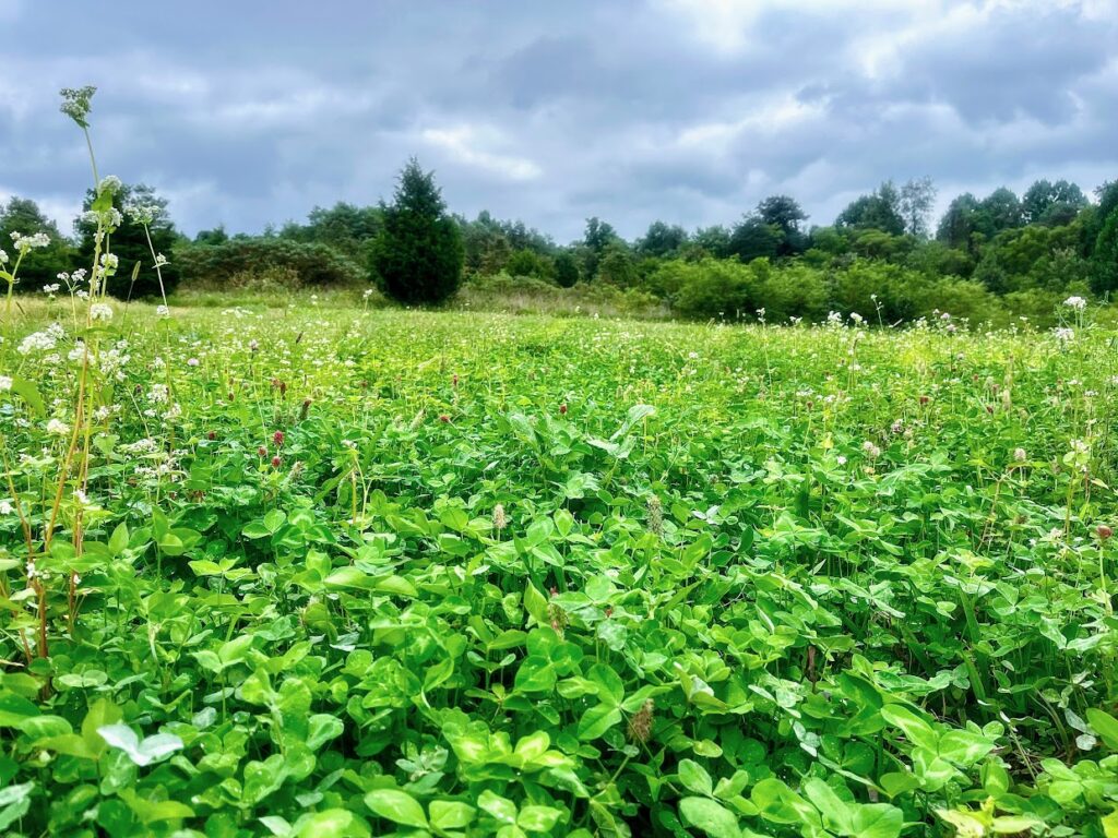
<path id="1" fill-rule="evenodd" d="M 776 192 L 830 223 L 887 178 L 940 208 L 1118 178 L 1118 0 L 0 0 L 0 198 L 66 229 L 83 84 L 102 173 L 189 234 L 373 203 L 409 154 L 454 211 L 560 242 Z"/>

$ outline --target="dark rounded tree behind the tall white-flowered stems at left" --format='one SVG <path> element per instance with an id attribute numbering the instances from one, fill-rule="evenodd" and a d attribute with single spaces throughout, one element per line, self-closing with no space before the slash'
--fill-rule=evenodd
<path id="1" fill-rule="evenodd" d="M 93 203 L 93 190 L 86 193 L 83 210 L 88 210 Z M 127 209 L 133 206 L 150 208 L 153 220 L 149 225 L 148 232 L 139 223 Z M 173 248 L 178 244 L 179 236 L 174 230 L 167 211 L 167 199 L 161 198 L 154 189 L 143 183 L 125 183 L 113 197 L 113 206 L 121 212 L 123 220 L 116 231 L 108 239 L 110 249 L 116 255 L 119 267 L 116 274 L 108 278 L 108 293 L 114 297 L 126 299 L 130 297 L 158 297 L 161 293 L 170 294 L 179 284 L 180 273 L 173 258 Z M 88 266 L 93 260 L 94 234 L 96 225 L 91 221 L 78 219 L 75 223 L 79 245 L 80 261 Z M 151 236 L 151 244 L 148 236 Z M 155 270 L 152 249 L 157 256 L 164 256 L 170 261 Z M 132 282 L 132 274 L 135 266 L 140 265 L 140 270 L 135 275 L 135 283 Z M 162 289 L 160 288 L 160 274 L 162 274 Z"/>

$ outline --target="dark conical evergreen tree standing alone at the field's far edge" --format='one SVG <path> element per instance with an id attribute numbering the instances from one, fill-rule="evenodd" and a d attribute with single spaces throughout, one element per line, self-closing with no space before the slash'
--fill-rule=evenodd
<path id="1" fill-rule="evenodd" d="M 434 172 L 424 172 L 415 158 L 400 172 L 392 202 L 381 203 L 381 225 L 370 268 L 388 296 L 401 303 L 442 303 L 458 289 L 462 236 Z"/>

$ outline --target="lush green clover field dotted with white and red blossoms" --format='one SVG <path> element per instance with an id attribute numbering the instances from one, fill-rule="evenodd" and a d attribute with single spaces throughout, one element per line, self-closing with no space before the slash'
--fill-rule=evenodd
<path id="1" fill-rule="evenodd" d="M 1118 835 L 1089 313 L 98 316 L 0 344 L 0 832 Z"/>

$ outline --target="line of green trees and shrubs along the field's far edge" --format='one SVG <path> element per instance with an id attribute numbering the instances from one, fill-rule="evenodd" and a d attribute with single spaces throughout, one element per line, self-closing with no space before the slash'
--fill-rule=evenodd
<path id="1" fill-rule="evenodd" d="M 885 181 L 827 226 L 808 227 L 800 204 L 776 194 L 729 226 L 688 231 L 657 220 L 627 241 L 590 218 L 580 239 L 558 245 L 521 221 L 451 213 L 434 174 L 414 159 L 391 200 L 316 207 L 305 221 L 258 236 L 219 226 L 191 239 L 150 187 L 125 187 L 117 197 L 122 210 L 130 202 L 154 209 L 150 231 L 157 253 L 170 260 L 169 289 L 372 283 L 402 303 L 438 304 L 464 282 L 529 291 L 589 286 L 642 295 L 692 317 L 817 320 L 837 311 L 893 322 L 942 311 L 1043 320 L 1068 294 L 1101 299 L 1118 287 L 1118 182 L 1101 185 L 1093 201 L 1065 180 L 1038 180 L 1020 197 L 1007 188 L 982 198 L 965 193 L 932 225 L 935 199 L 927 178 Z M 64 236 L 23 198 L 0 208 L 0 240 L 11 231 L 50 238 L 21 270 L 36 284 L 55 283 L 93 251 L 93 230 L 80 219 Z M 117 272 L 111 293 L 157 293 L 146 239 L 126 212 L 112 248 L 129 269 Z"/>

